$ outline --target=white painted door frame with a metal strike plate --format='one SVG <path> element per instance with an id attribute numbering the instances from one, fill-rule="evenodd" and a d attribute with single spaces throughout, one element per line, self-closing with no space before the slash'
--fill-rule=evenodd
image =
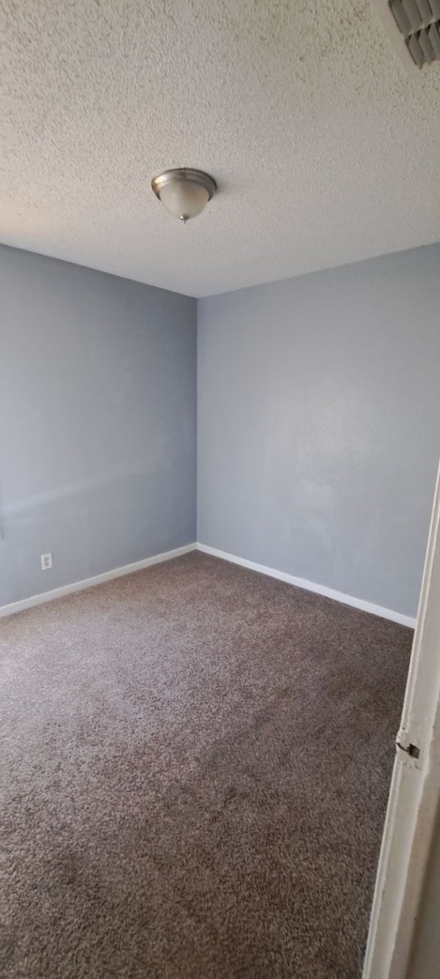
<path id="1" fill-rule="evenodd" d="M 410 979 L 440 816 L 440 466 L 374 889 L 363 979 Z M 438 932 L 438 924 L 437 924 Z M 432 935 L 432 942 L 438 941 Z M 418 979 L 432 979 L 426 970 Z"/>

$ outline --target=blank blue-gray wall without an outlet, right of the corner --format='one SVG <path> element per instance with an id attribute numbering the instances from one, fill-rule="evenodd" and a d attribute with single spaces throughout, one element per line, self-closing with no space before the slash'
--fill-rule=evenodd
<path id="1" fill-rule="evenodd" d="M 198 540 L 415 615 L 440 246 L 198 301 Z"/>

